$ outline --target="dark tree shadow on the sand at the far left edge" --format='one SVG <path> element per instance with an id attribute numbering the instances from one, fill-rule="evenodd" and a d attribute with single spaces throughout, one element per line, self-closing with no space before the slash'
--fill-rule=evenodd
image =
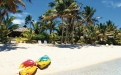
<path id="1" fill-rule="evenodd" d="M 26 49 L 25 47 L 17 47 L 17 44 L 15 43 L 0 43 L 0 52 L 16 50 L 17 48 Z"/>

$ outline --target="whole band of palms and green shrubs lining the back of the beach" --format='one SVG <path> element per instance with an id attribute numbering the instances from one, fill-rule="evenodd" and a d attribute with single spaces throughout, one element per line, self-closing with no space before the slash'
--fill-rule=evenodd
<path id="1" fill-rule="evenodd" d="M 12 3 L 16 5 L 9 8 Z M 0 42 L 8 42 L 12 35 L 10 33 L 19 27 L 12 23 L 15 17 L 8 15 L 8 13 L 20 12 L 16 8 L 18 3 L 25 6 L 22 0 L 12 0 L 11 4 L 6 0 L 0 2 L 2 9 L 0 12 Z M 83 7 L 83 3 L 75 0 L 54 0 L 48 3 L 48 6 L 50 8 L 38 16 L 37 22 L 32 19 L 31 15 L 26 16 L 25 26 L 28 29 L 18 38 L 21 37 L 28 43 L 47 40 L 48 43 L 54 44 L 55 42 L 60 44 L 121 44 L 121 29 L 111 20 L 100 23 L 99 18 L 102 17 L 94 17 L 95 8 Z"/>

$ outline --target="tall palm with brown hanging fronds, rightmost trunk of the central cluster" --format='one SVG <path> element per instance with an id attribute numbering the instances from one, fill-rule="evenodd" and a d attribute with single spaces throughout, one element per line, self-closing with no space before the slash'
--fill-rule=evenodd
<path id="1" fill-rule="evenodd" d="M 79 22 L 79 20 L 81 19 L 80 14 L 80 8 L 82 7 L 82 3 L 77 3 L 77 2 L 73 2 L 70 6 L 69 6 L 69 15 L 67 17 L 68 23 L 70 25 L 70 35 L 71 35 L 71 43 L 73 44 L 74 40 L 74 30 L 75 30 L 75 26 L 77 24 L 77 22 Z"/>

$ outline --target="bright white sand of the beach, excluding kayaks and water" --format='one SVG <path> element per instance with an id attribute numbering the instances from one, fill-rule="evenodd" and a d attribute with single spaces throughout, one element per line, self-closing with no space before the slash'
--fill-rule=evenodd
<path id="1" fill-rule="evenodd" d="M 50 75 L 66 70 L 87 67 L 121 58 L 121 46 L 45 46 L 38 44 L 0 44 L 0 75 L 18 75 L 19 65 L 27 60 L 36 61 L 43 55 L 51 58 L 51 65 L 37 70 L 35 75 Z M 10 50 L 10 51 L 7 51 Z"/>

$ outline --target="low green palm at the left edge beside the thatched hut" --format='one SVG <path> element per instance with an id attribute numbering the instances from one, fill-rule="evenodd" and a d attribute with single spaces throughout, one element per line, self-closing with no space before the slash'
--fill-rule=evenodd
<path id="1" fill-rule="evenodd" d="M 15 19 L 14 16 L 6 17 L 2 20 L 0 25 L 0 41 L 7 42 L 8 35 L 16 28 L 18 28 L 18 24 L 13 24 L 13 20 Z"/>

